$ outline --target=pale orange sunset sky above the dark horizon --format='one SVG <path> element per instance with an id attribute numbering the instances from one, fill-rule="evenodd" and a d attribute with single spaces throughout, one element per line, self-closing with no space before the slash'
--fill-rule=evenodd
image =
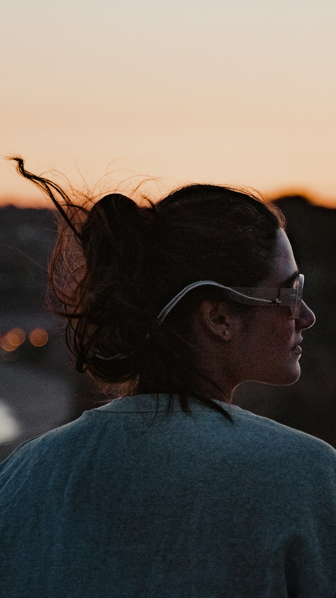
<path id="1" fill-rule="evenodd" d="M 50 206 L 4 160 L 20 154 L 97 192 L 155 177 L 154 196 L 213 182 L 336 208 L 335 17 L 334 0 L 3 3 L 0 203 Z"/>

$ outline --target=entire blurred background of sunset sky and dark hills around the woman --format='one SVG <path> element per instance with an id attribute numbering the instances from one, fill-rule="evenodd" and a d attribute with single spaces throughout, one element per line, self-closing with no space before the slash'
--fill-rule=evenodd
<path id="1" fill-rule="evenodd" d="M 210 182 L 276 202 L 316 324 L 297 383 L 233 402 L 336 448 L 335 17 L 311 0 L 2 6 L 0 460 L 99 406 L 44 307 L 53 206 L 8 154 L 84 193 Z"/>

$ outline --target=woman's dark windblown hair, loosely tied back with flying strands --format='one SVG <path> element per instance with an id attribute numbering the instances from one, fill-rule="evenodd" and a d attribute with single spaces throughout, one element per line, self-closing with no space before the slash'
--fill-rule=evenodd
<path id="1" fill-rule="evenodd" d="M 193 365 L 191 317 L 204 299 L 226 301 L 241 314 L 255 307 L 231 301 L 224 289 L 198 286 L 160 327 L 157 315 L 197 280 L 257 286 L 270 274 L 276 231 L 286 227 L 283 212 L 251 191 L 210 184 L 185 185 L 157 202 L 142 197 L 145 206 L 112 193 L 88 209 L 26 171 L 22 158 L 10 159 L 59 210 L 47 305 L 68 319 L 66 342 L 77 370 L 88 371 L 107 394 L 128 382 L 121 396 L 157 393 L 157 409 L 159 393 L 169 394 L 168 408 L 177 394 L 187 414 L 187 398 L 194 396 L 232 422 L 230 413 L 198 392 L 197 377 L 222 389 Z"/>

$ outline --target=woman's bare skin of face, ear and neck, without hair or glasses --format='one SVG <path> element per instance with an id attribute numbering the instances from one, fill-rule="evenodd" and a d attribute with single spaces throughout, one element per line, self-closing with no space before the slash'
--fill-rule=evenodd
<path id="1" fill-rule="evenodd" d="M 283 228 L 277 228 L 275 248 L 270 273 L 258 287 L 290 288 L 298 277 L 298 267 Z M 290 307 L 258 306 L 240 315 L 225 301 L 206 300 L 194 314 L 194 342 L 212 364 L 216 382 L 230 396 L 242 382 L 297 382 L 300 354 L 292 349 L 301 343 L 301 331 L 314 322 L 304 301 L 294 319 Z"/>

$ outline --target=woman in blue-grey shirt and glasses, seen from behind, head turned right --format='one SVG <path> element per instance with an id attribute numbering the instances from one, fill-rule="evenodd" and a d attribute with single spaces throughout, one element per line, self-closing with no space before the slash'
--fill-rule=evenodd
<path id="1" fill-rule="evenodd" d="M 0 466 L 1 595 L 336 596 L 336 451 L 232 404 L 297 382 L 315 321 L 283 213 L 220 185 L 87 209 L 15 159 L 62 215 L 77 370 L 127 390 Z"/>

